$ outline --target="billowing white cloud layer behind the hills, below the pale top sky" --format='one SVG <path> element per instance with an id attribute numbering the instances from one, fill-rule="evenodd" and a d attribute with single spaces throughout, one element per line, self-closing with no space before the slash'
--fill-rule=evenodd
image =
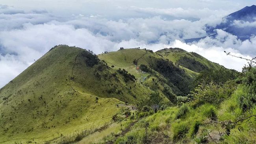
<path id="1" fill-rule="evenodd" d="M 236 70 L 241 70 L 246 61 L 227 56 L 224 50 L 247 58 L 256 54 L 255 36 L 241 41 L 223 30 L 215 30 L 218 33 L 215 38 L 206 37 L 191 44 L 183 42 L 207 36 L 205 25 L 221 23 L 221 13 L 228 14 L 228 11 L 135 6 L 117 6 L 116 9 L 144 16 L 111 19 L 102 15 L 57 15 L 46 10 L 23 11 L 0 6 L 0 87 L 58 44 L 75 45 L 96 54 L 120 47 L 139 46 L 154 51 L 178 47 Z"/>

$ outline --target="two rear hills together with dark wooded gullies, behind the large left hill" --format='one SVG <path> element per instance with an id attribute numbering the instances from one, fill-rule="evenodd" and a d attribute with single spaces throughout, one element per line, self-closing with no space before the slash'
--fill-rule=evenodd
<path id="1" fill-rule="evenodd" d="M 98 57 L 113 69 L 128 70 L 139 83 L 152 90 L 160 89 L 160 92 L 169 99 L 173 97 L 168 96 L 170 94 L 174 96 L 188 94 L 193 89 L 191 83 L 200 71 L 223 68 L 196 53 L 189 53 L 179 48 L 157 52 L 138 48 L 121 49 L 117 52 L 99 54 Z M 166 94 L 165 90 L 168 90 L 169 94 Z"/>

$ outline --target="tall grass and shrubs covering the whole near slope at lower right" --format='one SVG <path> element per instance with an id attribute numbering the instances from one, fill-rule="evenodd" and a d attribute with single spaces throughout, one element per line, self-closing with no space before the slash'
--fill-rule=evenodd
<path id="1" fill-rule="evenodd" d="M 168 107 L 139 120 L 115 143 L 254 144 L 255 80 L 254 67 L 245 70 L 237 79 L 224 83 L 204 81 L 182 105 Z"/>

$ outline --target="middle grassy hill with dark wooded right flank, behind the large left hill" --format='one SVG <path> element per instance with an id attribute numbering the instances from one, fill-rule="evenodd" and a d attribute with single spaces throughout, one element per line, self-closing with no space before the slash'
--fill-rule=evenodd
<path id="1" fill-rule="evenodd" d="M 194 77 L 186 70 L 145 49 L 122 49 L 98 55 L 113 69 L 128 70 L 137 82 L 158 91 L 173 101 L 178 95 L 186 95 Z"/>

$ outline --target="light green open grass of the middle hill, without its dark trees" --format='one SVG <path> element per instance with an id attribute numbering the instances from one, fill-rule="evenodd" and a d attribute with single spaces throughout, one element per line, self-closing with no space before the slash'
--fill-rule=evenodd
<path id="1" fill-rule="evenodd" d="M 137 70 L 137 66 L 149 65 L 150 63 L 154 63 L 155 59 L 153 58 L 161 58 L 159 55 L 155 53 L 148 52 L 144 49 L 124 49 L 118 50 L 117 52 L 109 52 L 108 54 L 99 54 L 99 59 L 106 61 L 109 66 L 114 66 L 113 69 L 118 70 L 119 68 L 127 70 L 130 74 L 133 74 L 137 79 L 137 83 L 143 82 L 146 87 L 152 89 L 152 77 L 149 73 L 143 73 L 141 70 Z M 140 59 L 139 59 L 140 58 Z M 137 66 L 133 63 L 134 59 L 139 59 Z M 159 74 L 158 74 L 159 75 Z M 150 79 L 148 77 L 151 76 Z M 143 79 L 144 78 L 144 79 Z M 157 79 L 157 78 L 155 78 Z M 163 78 L 164 79 L 164 78 Z M 160 94 L 164 95 L 161 90 L 163 90 L 163 86 L 160 84 L 154 85 L 155 91 L 160 92 Z M 168 103 L 169 100 L 167 98 L 164 99 L 164 103 Z"/>

